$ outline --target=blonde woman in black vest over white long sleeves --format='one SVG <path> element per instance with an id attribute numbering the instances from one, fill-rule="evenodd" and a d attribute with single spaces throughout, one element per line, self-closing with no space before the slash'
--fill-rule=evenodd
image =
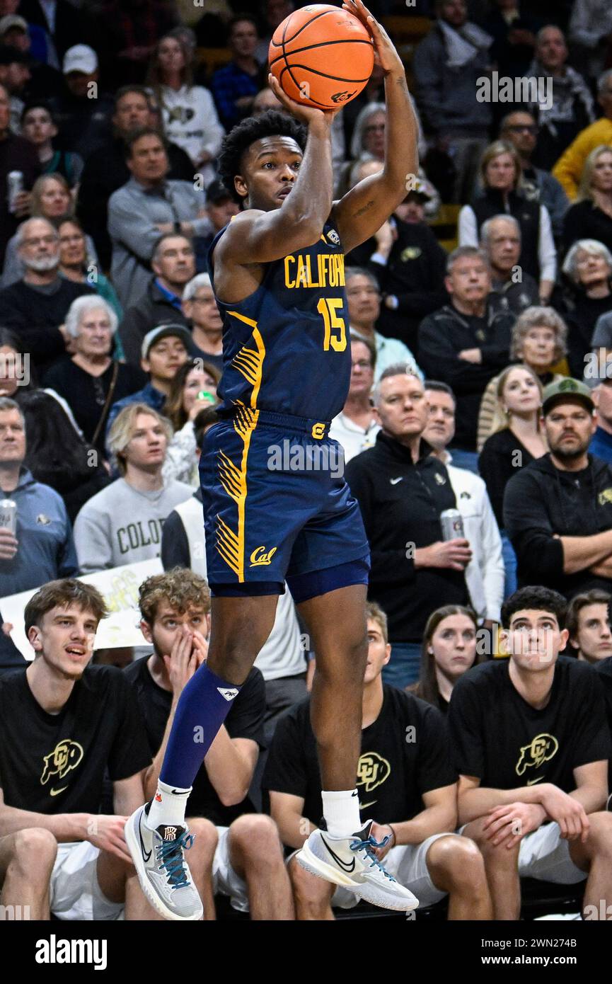
<path id="1" fill-rule="evenodd" d="M 519 265 L 538 281 L 540 300 L 547 303 L 557 277 L 557 250 L 548 209 L 522 194 L 516 148 L 504 140 L 490 144 L 480 159 L 479 178 L 480 194 L 459 212 L 459 246 L 478 246 L 488 218 L 513 215 L 520 225 Z"/>

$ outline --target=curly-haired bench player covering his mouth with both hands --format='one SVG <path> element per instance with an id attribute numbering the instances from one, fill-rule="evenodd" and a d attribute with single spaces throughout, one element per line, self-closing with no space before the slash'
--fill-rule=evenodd
<path id="1" fill-rule="evenodd" d="M 203 578 L 177 569 L 148 578 L 139 594 L 141 628 L 153 653 L 128 666 L 125 675 L 147 729 L 153 765 L 145 775 L 145 795 L 153 796 L 176 705 L 207 656 L 211 592 Z M 248 798 L 265 712 L 264 678 L 253 666 L 194 779 L 189 810 L 198 819 L 189 825 L 199 825 L 199 847 L 209 858 L 197 881 L 207 919 L 214 919 L 216 893 L 228 896 L 235 909 L 250 911 L 252 919 L 293 918 L 278 831 L 270 817 L 254 813 Z"/>

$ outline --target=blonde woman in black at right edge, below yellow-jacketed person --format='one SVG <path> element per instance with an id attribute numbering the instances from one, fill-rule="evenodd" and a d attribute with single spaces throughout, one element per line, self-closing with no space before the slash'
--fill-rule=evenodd
<path id="1" fill-rule="evenodd" d="M 596 239 L 612 250 L 612 147 L 605 144 L 584 161 L 576 204 L 563 220 L 564 251 L 577 239 Z"/>

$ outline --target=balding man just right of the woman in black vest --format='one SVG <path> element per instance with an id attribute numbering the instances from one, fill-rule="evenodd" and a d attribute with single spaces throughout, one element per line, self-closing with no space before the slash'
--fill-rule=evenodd
<path id="1" fill-rule="evenodd" d="M 480 229 L 480 248 L 491 268 L 491 303 L 520 315 L 539 304 L 537 281 L 520 269 L 520 225 L 514 215 L 493 215 Z"/>

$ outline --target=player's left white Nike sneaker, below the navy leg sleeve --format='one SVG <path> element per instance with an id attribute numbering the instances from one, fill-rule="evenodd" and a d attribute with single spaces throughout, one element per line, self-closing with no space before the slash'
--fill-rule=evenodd
<path id="1" fill-rule="evenodd" d="M 124 828 L 141 889 L 164 919 L 202 919 L 202 901 L 185 861 L 193 836 L 187 827 L 150 830 L 146 809 L 139 807 Z"/>

